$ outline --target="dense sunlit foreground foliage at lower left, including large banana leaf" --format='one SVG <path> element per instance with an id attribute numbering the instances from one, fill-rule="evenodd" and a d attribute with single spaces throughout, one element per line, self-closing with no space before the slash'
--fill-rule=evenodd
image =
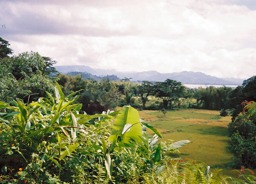
<path id="1" fill-rule="evenodd" d="M 1 181 L 139 182 L 169 158 L 166 152 L 189 143 L 160 143 L 161 134 L 130 106 L 113 123 L 117 112 L 79 114 L 78 96 L 65 98 L 58 85 L 55 97 L 47 94 L 29 104 L 0 102 L 0 109 L 12 110 L 0 114 Z M 146 127 L 156 135 L 145 134 Z"/>

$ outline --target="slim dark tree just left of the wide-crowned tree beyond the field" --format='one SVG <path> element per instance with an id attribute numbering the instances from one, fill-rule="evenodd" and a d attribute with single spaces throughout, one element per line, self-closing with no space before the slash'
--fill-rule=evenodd
<path id="1" fill-rule="evenodd" d="M 152 94 L 153 83 L 149 81 L 142 81 L 143 83 L 138 86 L 138 95 L 142 101 L 142 109 L 148 101 L 148 96 Z"/>

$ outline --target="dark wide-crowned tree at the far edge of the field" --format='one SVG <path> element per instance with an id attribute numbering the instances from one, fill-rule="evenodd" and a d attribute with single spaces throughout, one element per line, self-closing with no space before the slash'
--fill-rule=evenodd
<path id="1" fill-rule="evenodd" d="M 182 93 L 185 86 L 176 80 L 166 79 L 164 82 L 156 82 L 153 86 L 154 96 L 163 100 L 163 106 L 168 109 L 172 102 L 177 100 Z"/>

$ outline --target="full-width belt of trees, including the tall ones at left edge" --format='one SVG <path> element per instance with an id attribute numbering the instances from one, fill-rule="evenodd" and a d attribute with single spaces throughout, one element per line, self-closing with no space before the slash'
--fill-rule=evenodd
<path id="1" fill-rule="evenodd" d="M 12 49 L 9 48 L 8 41 L 0 38 L 0 45 L 0 100 L 9 103 L 17 99 L 28 103 L 44 97 L 47 95 L 45 91 L 53 92 L 52 87 L 56 81 L 66 95 L 81 90 L 78 102 L 84 104 L 82 110 L 89 114 L 131 105 L 137 109 L 151 110 L 223 109 L 222 115 L 232 114 L 235 117 L 241 112 L 241 101 L 255 99 L 254 91 L 251 90 L 255 88 L 253 78 L 246 80 L 243 86 L 235 90 L 213 86 L 188 89 L 171 79 L 155 83 L 132 83 L 129 78 L 116 81 L 111 76 L 101 80 L 84 79 L 88 77 L 88 73 L 60 75 L 53 67 L 56 61 L 36 52 L 9 57 Z"/>

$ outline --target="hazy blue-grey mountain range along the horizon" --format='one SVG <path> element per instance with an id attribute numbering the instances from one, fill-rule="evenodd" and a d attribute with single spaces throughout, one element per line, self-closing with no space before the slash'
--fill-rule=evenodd
<path id="1" fill-rule="evenodd" d="M 160 73 L 157 71 L 148 72 L 119 72 L 115 69 L 93 69 L 90 66 L 70 65 L 70 66 L 55 66 L 55 68 L 64 74 L 68 72 L 87 72 L 92 75 L 104 77 L 106 75 L 116 75 L 118 78 L 132 78 L 132 81 L 164 81 L 167 78 L 177 80 L 183 84 L 218 84 L 218 85 L 241 85 L 243 79 L 238 78 L 217 78 L 211 75 L 206 75 L 202 72 L 174 72 Z"/>

